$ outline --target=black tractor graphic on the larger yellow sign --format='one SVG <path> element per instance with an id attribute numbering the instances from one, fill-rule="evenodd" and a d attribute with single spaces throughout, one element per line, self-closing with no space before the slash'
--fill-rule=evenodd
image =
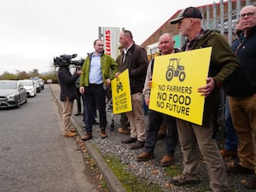
<path id="1" fill-rule="evenodd" d="M 166 80 L 171 81 L 173 77 L 178 77 L 180 82 L 186 77 L 184 67 L 179 65 L 180 58 L 171 58 L 166 71 Z"/>

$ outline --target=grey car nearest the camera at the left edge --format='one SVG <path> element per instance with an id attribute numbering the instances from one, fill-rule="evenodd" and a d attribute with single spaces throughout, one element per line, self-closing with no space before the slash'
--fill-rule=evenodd
<path id="1" fill-rule="evenodd" d="M 26 90 L 18 80 L 0 80 L 0 108 L 20 108 L 26 100 Z"/>

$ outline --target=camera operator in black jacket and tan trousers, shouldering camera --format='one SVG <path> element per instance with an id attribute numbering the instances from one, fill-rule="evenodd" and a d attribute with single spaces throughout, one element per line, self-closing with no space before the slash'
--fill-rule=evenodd
<path id="1" fill-rule="evenodd" d="M 75 56 L 67 55 L 67 58 L 61 58 L 62 62 L 58 66 L 58 79 L 61 86 L 61 102 L 64 104 L 62 110 L 62 126 L 64 137 L 74 137 L 77 135 L 70 118 L 73 112 L 73 100 L 78 97 L 75 81 L 79 79 L 82 71 L 76 70 L 72 75 L 69 70 L 69 64 L 71 63 L 70 59 L 74 58 Z"/>

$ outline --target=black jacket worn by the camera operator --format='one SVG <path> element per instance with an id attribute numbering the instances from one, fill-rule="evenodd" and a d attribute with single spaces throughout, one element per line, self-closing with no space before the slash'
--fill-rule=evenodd
<path id="1" fill-rule="evenodd" d="M 78 97 L 76 92 L 75 81 L 79 78 L 79 74 L 72 75 L 69 67 L 60 67 L 58 71 L 59 84 L 61 86 L 61 101 L 66 101 L 66 96 L 72 101 Z"/>

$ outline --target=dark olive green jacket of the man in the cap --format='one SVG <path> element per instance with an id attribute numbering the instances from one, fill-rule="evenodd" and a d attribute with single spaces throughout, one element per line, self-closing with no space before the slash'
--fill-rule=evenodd
<path id="1" fill-rule="evenodd" d="M 186 43 L 182 50 L 185 50 Z M 208 77 L 212 77 L 215 82 L 215 90 L 210 96 L 207 96 L 204 108 L 203 126 L 209 126 L 212 123 L 213 108 L 219 103 L 219 89 L 227 79 L 237 72 L 240 67 L 239 61 L 230 49 L 230 44 L 223 35 L 212 30 L 204 32 L 203 36 L 198 40 L 193 49 L 201 49 L 212 47 L 212 55 L 209 67 Z M 195 67 L 196 63 L 195 63 Z"/>

